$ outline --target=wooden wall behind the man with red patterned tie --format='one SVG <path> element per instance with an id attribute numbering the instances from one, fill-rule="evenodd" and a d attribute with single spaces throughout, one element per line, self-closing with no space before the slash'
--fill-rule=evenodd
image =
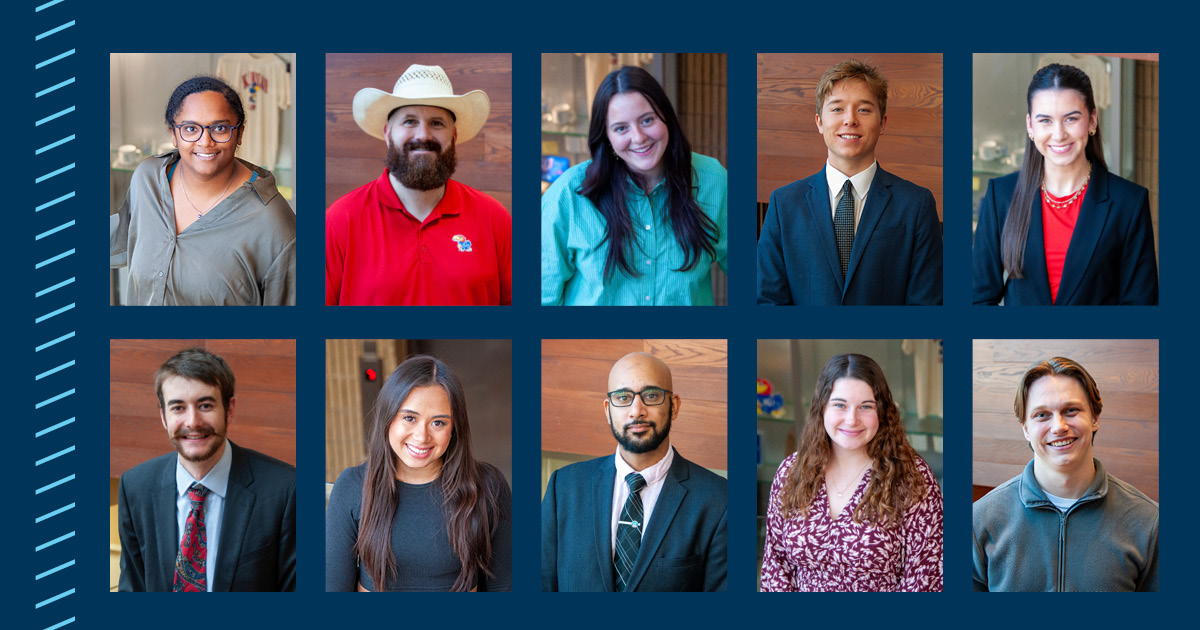
<path id="1" fill-rule="evenodd" d="M 229 439 L 295 464 L 295 341 L 112 340 L 109 342 L 109 476 L 170 452 L 158 415 L 154 373 L 185 348 L 220 354 L 236 379 Z"/>

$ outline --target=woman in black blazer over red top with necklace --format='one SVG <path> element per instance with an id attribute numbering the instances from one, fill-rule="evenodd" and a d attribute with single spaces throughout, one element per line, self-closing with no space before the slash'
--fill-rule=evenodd
<path id="1" fill-rule="evenodd" d="M 1021 170 L 979 204 L 974 304 L 1158 304 L 1150 193 L 1109 173 L 1091 79 L 1051 64 L 1025 102 Z"/>

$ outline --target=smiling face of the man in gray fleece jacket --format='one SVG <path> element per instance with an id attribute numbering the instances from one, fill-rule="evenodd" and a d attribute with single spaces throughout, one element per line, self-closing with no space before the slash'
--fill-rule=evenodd
<path id="1" fill-rule="evenodd" d="M 1072 473 L 1092 463 L 1092 433 L 1100 420 L 1092 414 L 1079 380 L 1045 376 L 1030 385 L 1021 432 L 1033 448 L 1037 463 Z"/>

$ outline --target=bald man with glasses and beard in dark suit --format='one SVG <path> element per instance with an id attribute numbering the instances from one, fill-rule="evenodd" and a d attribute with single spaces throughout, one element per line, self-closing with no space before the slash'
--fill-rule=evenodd
<path id="1" fill-rule="evenodd" d="M 672 386 L 650 354 L 612 366 L 604 409 L 617 452 L 551 475 L 542 590 L 725 590 L 725 479 L 671 446 L 683 403 Z"/>

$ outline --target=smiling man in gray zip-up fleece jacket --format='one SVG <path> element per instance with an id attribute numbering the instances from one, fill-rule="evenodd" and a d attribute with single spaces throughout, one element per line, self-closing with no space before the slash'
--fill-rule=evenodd
<path id="1" fill-rule="evenodd" d="M 1092 457 L 1092 376 L 1038 361 L 1013 407 L 1033 461 L 972 508 L 974 590 L 1158 590 L 1158 503 Z"/>

